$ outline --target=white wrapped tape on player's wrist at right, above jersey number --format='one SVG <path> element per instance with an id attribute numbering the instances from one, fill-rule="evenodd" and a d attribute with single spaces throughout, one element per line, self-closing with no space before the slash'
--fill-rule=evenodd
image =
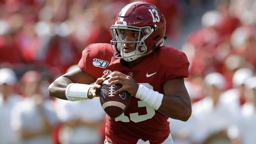
<path id="1" fill-rule="evenodd" d="M 151 90 L 150 88 L 140 84 L 135 97 L 146 102 L 155 110 L 158 110 L 162 104 L 163 96 L 163 94 L 160 94 L 159 92 Z"/>

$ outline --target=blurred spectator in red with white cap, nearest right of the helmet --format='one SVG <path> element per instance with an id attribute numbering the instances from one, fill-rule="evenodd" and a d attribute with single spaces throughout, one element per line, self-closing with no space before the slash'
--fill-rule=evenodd
<path id="1" fill-rule="evenodd" d="M 218 61 L 214 58 L 215 50 L 220 43 L 218 25 L 222 19 L 220 12 L 211 10 L 202 16 L 202 28 L 192 32 L 184 46 L 193 49 L 190 61 L 191 74 L 204 74 L 218 71 Z"/>

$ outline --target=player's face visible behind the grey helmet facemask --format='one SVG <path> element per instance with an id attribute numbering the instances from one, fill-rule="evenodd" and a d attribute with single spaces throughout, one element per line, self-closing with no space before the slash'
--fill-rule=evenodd
<path id="1" fill-rule="evenodd" d="M 121 38 L 124 40 L 124 53 L 129 53 L 133 52 L 136 48 L 136 43 L 128 43 L 128 42 L 133 42 L 133 41 L 138 41 L 142 39 L 142 34 L 140 34 L 139 38 L 139 33 L 138 31 L 135 30 L 121 30 Z"/>

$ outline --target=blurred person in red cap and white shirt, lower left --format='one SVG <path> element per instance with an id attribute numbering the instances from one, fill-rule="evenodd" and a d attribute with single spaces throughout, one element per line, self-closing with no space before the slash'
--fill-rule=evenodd
<path id="1" fill-rule="evenodd" d="M 53 102 L 41 91 L 42 76 L 28 71 L 22 76 L 24 99 L 14 105 L 11 126 L 20 136 L 19 144 L 50 144 L 50 133 L 58 122 Z"/>

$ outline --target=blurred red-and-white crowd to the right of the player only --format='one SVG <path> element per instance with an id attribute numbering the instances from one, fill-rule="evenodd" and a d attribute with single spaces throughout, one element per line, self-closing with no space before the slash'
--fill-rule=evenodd
<path id="1" fill-rule="evenodd" d="M 256 1 L 215 0 L 182 46 L 190 61 L 187 122 L 170 120 L 176 144 L 256 141 Z"/>

